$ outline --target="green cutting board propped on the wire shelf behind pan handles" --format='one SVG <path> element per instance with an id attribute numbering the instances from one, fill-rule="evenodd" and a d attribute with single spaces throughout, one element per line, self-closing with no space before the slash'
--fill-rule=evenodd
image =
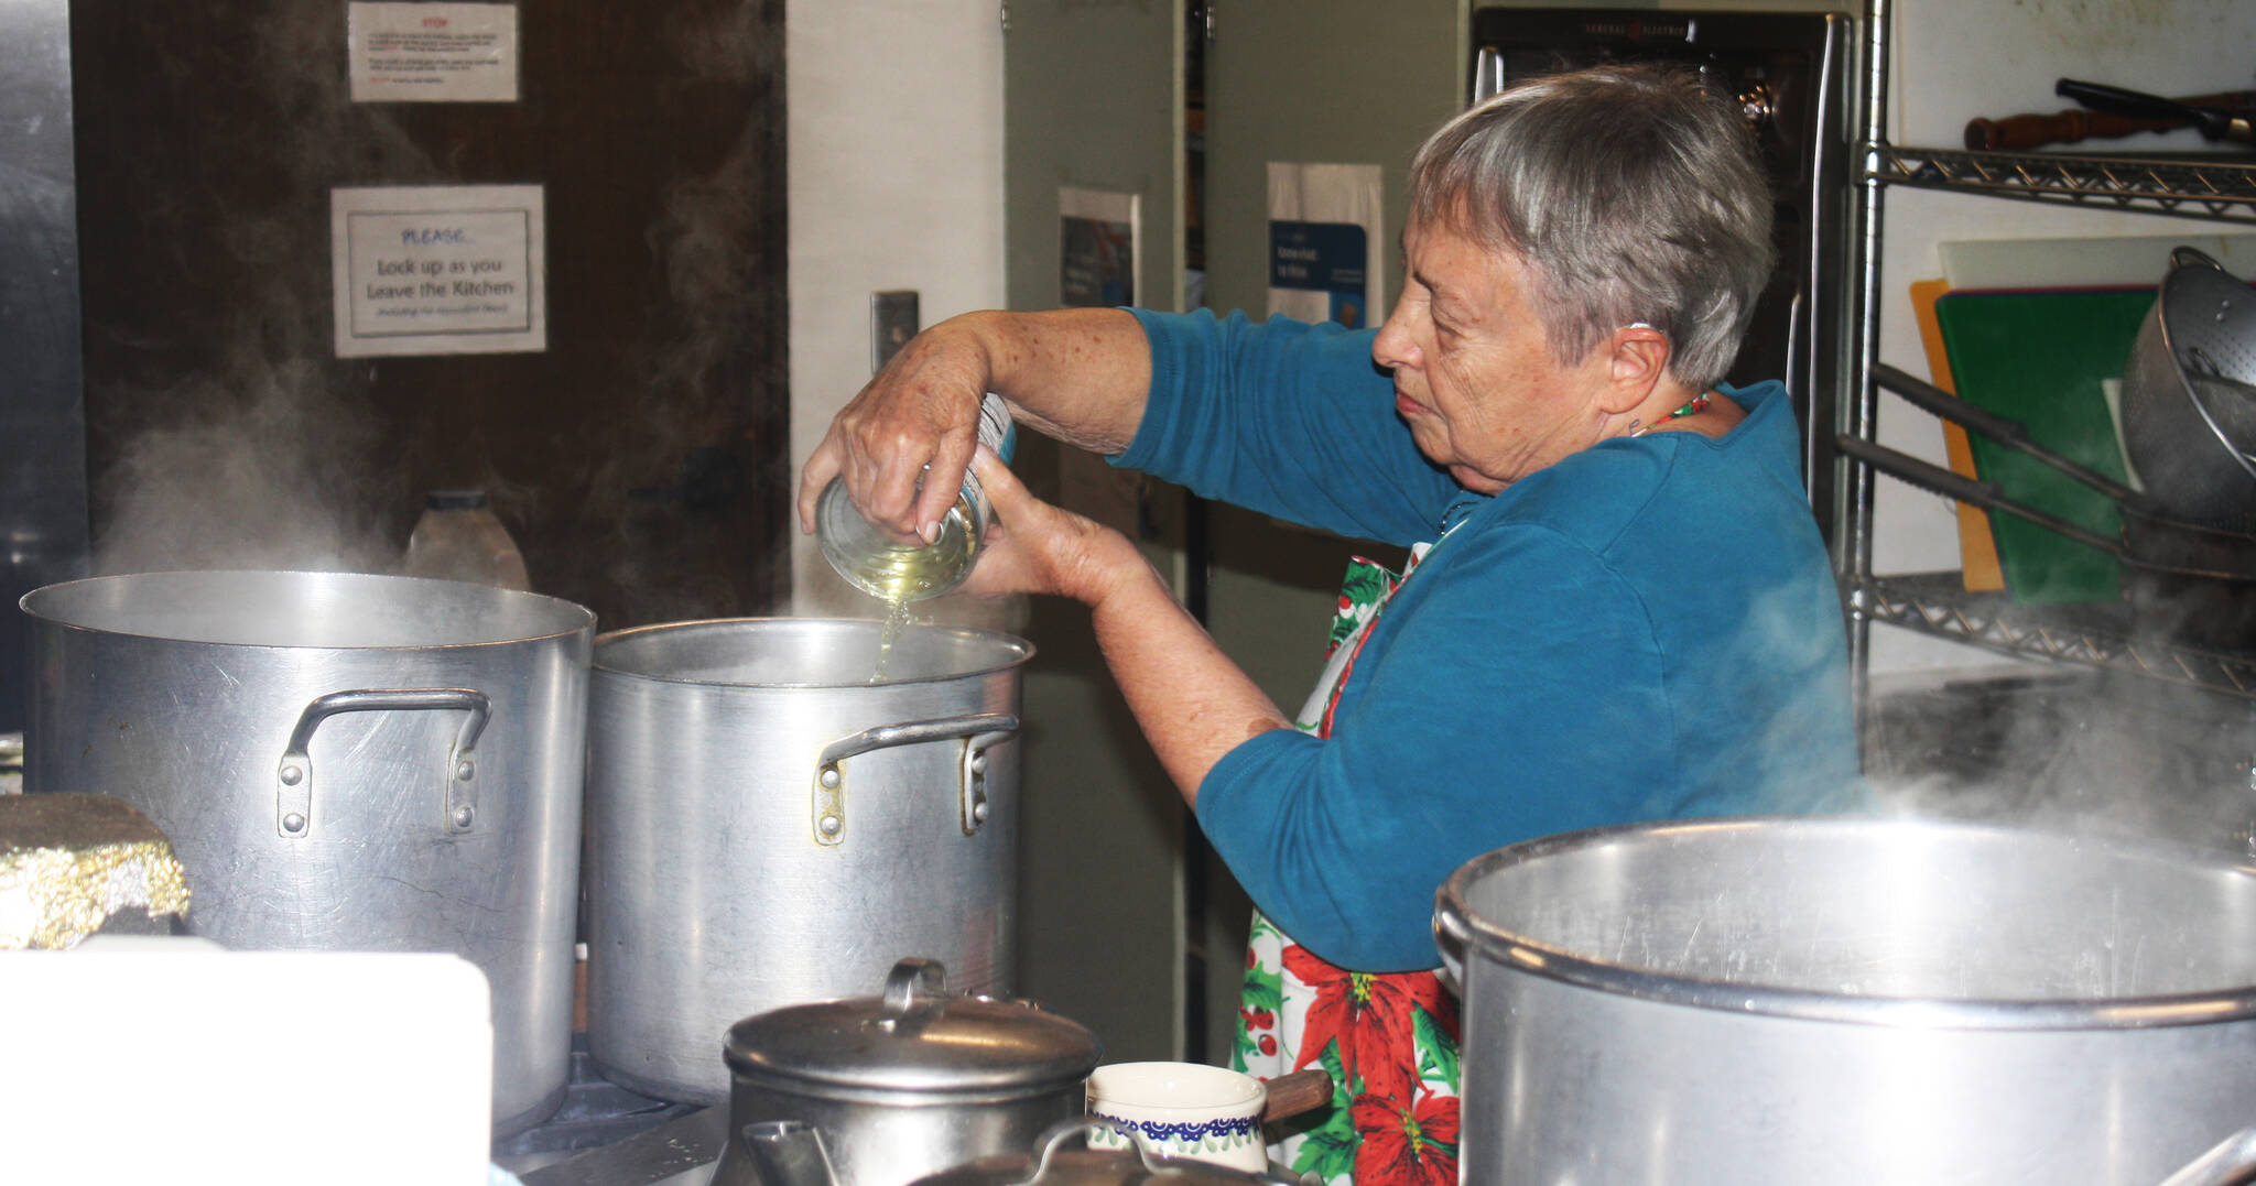
<path id="1" fill-rule="evenodd" d="M 2152 304 L 2154 289 L 1945 293 L 1936 300 L 1936 325 L 1960 399 L 2017 419 L 2037 444 L 2123 480 L 2123 446 L 2103 383 L 2123 377 Z M 1981 433 L 1969 437 L 1976 473 L 2003 487 L 2008 498 L 2123 537 L 2123 516 L 2105 494 Z M 2006 512 L 1990 512 L 1990 528 L 2012 600 L 2123 598 L 2121 561 L 2112 552 Z"/>

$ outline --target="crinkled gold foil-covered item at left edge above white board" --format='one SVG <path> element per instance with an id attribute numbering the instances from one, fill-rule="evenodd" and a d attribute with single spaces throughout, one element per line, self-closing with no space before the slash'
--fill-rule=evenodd
<path id="1" fill-rule="evenodd" d="M 113 920 L 187 915 L 187 873 L 149 816 L 97 794 L 0 796 L 0 949 L 72 947 Z"/>

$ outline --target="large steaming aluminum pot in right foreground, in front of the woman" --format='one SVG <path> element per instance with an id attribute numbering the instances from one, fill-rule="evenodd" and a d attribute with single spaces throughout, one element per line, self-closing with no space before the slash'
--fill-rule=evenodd
<path id="1" fill-rule="evenodd" d="M 1473 859 L 1437 931 L 1464 1181 L 2152 1186 L 2256 1121 L 2256 875 L 2204 852 L 1651 823 Z"/>

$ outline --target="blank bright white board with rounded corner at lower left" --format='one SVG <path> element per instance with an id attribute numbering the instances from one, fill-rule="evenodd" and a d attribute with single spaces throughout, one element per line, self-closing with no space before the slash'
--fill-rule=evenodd
<path id="1" fill-rule="evenodd" d="M 485 1186 L 487 1001 L 438 954 L 0 952 L 0 1181 Z"/>

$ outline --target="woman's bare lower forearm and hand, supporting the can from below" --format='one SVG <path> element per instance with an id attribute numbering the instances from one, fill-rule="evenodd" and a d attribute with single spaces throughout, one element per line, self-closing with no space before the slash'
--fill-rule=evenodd
<path id="1" fill-rule="evenodd" d="M 1198 803 L 1207 771 L 1248 737 L 1293 728 L 1128 537 L 1042 503 L 986 453 L 972 464 L 997 525 L 968 588 L 1056 593 L 1087 604 L 1105 665 L 1184 803 Z"/>

